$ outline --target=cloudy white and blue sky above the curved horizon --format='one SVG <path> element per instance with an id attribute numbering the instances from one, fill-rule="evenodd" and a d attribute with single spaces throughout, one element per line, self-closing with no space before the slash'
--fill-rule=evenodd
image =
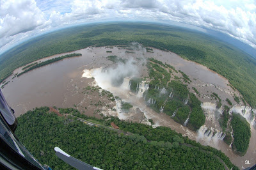
<path id="1" fill-rule="evenodd" d="M 0 54 L 47 31 L 115 20 L 180 22 L 256 49 L 256 0 L 0 0 Z"/>

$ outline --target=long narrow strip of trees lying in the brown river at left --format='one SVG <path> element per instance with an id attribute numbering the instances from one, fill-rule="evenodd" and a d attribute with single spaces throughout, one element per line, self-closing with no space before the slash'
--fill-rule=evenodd
<path id="1" fill-rule="evenodd" d="M 72 58 L 72 57 L 76 57 L 76 56 L 82 56 L 82 54 L 77 54 L 77 53 L 72 53 L 72 54 L 67 54 L 67 55 L 65 55 L 65 56 L 60 56 L 60 57 L 58 57 L 58 58 L 52 58 L 52 59 L 48 59 L 47 61 L 43 61 L 42 63 L 32 63 L 31 65 L 28 65 L 28 66 L 25 66 L 24 68 L 26 69 L 26 70 L 24 70 L 23 68 L 22 68 L 22 70 L 24 70 L 23 72 L 21 72 L 21 73 L 19 73 L 18 75 L 17 75 L 17 77 L 19 77 L 20 75 L 22 75 L 22 74 L 24 74 L 24 73 L 26 73 L 26 72 L 29 72 L 30 70 L 33 70 L 33 69 L 35 69 L 35 68 L 38 68 L 38 67 L 40 67 L 40 66 L 45 66 L 45 65 L 49 65 L 49 64 L 51 64 L 51 63 L 54 63 L 54 62 L 56 62 L 56 61 L 60 61 L 61 59 L 65 59 L 65 58 Z"/>

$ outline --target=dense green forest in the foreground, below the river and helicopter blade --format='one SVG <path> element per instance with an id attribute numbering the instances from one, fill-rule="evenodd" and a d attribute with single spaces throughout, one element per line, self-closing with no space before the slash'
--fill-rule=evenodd
<path id="1" fill-rule="evenodd" d="M 170 128 L 152 128 L 118 118 L 97 120 L 105 125 L 114 121 L 122 130 L 133 133 L 124 135 L 48 111 L 49 107 L 41 107 L 20 116 L 15 134 L 42 164 L 53 169 L 72 169 L 56 157 L 55 146 L 102 169 L 225 169 L 219 158 L 228 168 L 238 169 L 221 151 L 182 137 Z M 88 118 L 75 109 L 61 111 Z"/>

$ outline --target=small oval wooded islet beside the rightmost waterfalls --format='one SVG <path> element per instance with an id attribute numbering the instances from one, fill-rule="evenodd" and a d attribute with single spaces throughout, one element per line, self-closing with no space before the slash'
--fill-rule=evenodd
<path id="1" fill-rule="evenodd" d="M 250 124 L 239 114 L 232 114 L 231 125 L 234 131 L 232 150 L 244 155 L 249 147 L 251 128 Z"/>

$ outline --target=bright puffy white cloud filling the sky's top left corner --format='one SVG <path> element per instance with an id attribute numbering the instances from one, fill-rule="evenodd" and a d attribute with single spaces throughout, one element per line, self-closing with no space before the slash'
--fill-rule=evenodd
<path id="1" fill-rule="evenodd" d="M 46 20 L 35 1 L 1 1 L 0 47 L 13 41 L 15 36 L 33 31 Z"/>

